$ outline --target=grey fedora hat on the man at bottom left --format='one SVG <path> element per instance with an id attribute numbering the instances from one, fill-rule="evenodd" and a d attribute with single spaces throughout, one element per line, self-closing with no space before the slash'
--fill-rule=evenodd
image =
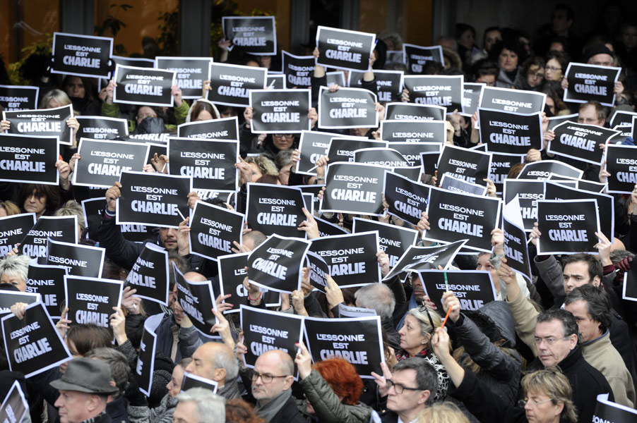
<path id="1" fill-rule="evenodd" d="M 78 391 L 112 395 L 119 392 L 110 384 L 111 367 L 103 361 L 92 358 L 74 358 L 66 365 L 66 372 L 51 386 L 63 391 Z"/>

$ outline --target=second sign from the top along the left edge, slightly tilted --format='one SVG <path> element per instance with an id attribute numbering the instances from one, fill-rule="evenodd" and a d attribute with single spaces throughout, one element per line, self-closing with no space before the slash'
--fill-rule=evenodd
<path id="1" fill-rule="evenodd" d="M 49 141 L 57 137 L 63 145 L 73 145 L 73 130 L 66 124 L 72 117 L 71 104 L 54 109 L 2 112 L 2 119 L 11 123 L 8 133 L 48 137 Z"/>

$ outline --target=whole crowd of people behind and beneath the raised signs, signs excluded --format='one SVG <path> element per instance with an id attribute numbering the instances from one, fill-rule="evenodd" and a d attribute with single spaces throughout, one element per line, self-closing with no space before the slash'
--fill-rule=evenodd
<path id="1" fill-rule="evenodd" d="M 511 28 L 489 27 L 484 31 L 482 48 L 475 44 L 475 30 L 458 24 L 455 36 L 436 40 L 443 47 L 444 63 L 427 62 L 424 74 L 464 75 L 465 82 L 544 92 L 544 148 L 530 150 L 525 162 L 565 161 L 581 168 L 583 178 L 605 183 L 610 175 L 603 166 L 547 153 L 547 142 L 554 137 L 547 129 L 548 118 L 577 113 L 580 123 L 608 126 L 615 111 L 634 111 L 637 24 L 621 22 L 576 37 L 571 30 L 574 19 L 571 8 L 558 5 L 537 37 Z M 402 51 L 400 36 L 383 32 L 378 39 L 370 70 L 362 78 L 362 87 L 371 92 L 377 90 L 375 70 L 408 74 L 400 54 L 388 54 Z M 280 71 L 276 56 L 242 55 L 237 50 L 229 53 L 225 40 L 219 45 L 220 61 Z M 318 57 L 318 49 L 312 54 Z M 561 100 L 568 86 L 564 74 L 570 62 L 621 67 L 612 110 L 597 102 L 566 104 Z M 317 65 L 311 76 L 308 118 L 312 129 L 318 130 L 316 102 L 319 87 L 327 85 L 326 68 Z M 72 104 L 78 115 L 126 118 L 132 134 L 174 133 L 181 123 L 237 116 L 241 159 L 235 165 L 240 181 L 234 204 L 219 198 L 202 200 L 200 193 L 191 192 L 184 198 L 189 207 L 206 201 L 245 212 L 249 183 L 323 184 L 327 157 L 316 161 L 316 176 L 295 173 L 294 165 L 300 157 L 299 135 L 252 133 L 251 107 L 242 110 L 209 102 L 206 92 L 211 88 L 210 81 L 204 83 L 202 98 L 191 103 L 181 98 L 179 87 L 172 87 L 173 108 L 117 104 L 113 101 L 114 81 L 99 93 L 95 81 L 71 75 L 58 85 L 54 76 L 43 73 L 33 83 L 42 89 L 42 109 Z M 335 91 L 340 87 L 329 88 Z M 407 90 L 403 99 L 409 99 Z M 376 111 L 382 120 L 384 105 L 377 104 Z M 448 112 L 445 144 L 472 147 L 480 143 L 476 116 Z M 76 134 L 78 120 L 70 118 L 67 123 Z M 10 125 L 2 121 L 1 129 L 8 130 Z M 323 132 L 380 137 L 378 128 Z M 632 145 L 631 138 L 627 142 Z M 106 192 L 73 186 L 71 176 L 78 160 L 81 155 L 76 144 L 63 146 L 56 163 L 59 186 L 0 183 L 0 216 L 77 216 L 77 242 L 105 249 L 102 278 L 126 280 L 143 243 L 127 240 L 116 223 L 114 200 L 121 195 L 121 184 L 114 183 Z M 167 157 L 156 156 L 144 171 L 165 172 L 166 161 Z M 516 178 L 522 166 L 513 166 L 508 178 Z M 435 185 L 437 177 L 425 175 L 423 182 Z M 488 195 L 496 197 L 493 183 L 488 183 Z M 100 226 L 96 232 L 90 231 L 80 203 L 102 196 L 107 201 Z M 316 216 L 352 231 L 351 214 L 317 211 Z M 425 213 L 415 227 L 395 216 L 369 219 L 415 228 L 421 234 L 434 224 Z M 8 381 L 17 380 L 30 405 L 23 421 L 62 423 L 591 422 L 600 394 L 607 393 L 610 400 L 626 407 L 636 406 L 637 309 L 635 302 L 624 299 L 622 288 L 624 274 L 630 271 L 637 250 L 637 185 L 631 195 L 614 195 L 614 219 L 615 233 L 599 235 L 600 242 L 595 245 L 598 255 L 538 255 L 536 245 L 542 228 L 536 225 L 528 245 L 532 281 L 507 265 L 504 233 L 492 228 L 492 253 L 457 256 L 453 262 L 456 269 L 485 270 L 492 276 L 497 299 L 471 312 L 461 310 L 459 298 L 451 291 L 443 295 L 443 309 L 436 309 L 423 288 L 421 278 L 427 278 L 426 272 L 412 272 L 404 280 L 395 276 L 383 283 L 345 289 L 328 278 L 323 293 L 309 284 L 308 272 L 304 271 L 302 289 L 291 295 L 282 293 L 279 307 L 266 307 L 261 289 L 247 278 L 246 297 L 218 295 L 218 266 L 189 254 L 186 219 L 178 229 L 158 228 L 156 238 L 146 242 L 167 250 L 169 261 L 187 281 L 212 281 L 218 295 L 217 309 L 213 310 L 218 323 L 213 331 L 220 340 L 210 341 L 196 331 L 176 301 L 177 286 L 171 272 L 168 307 L 138 298 L 136 290 L 127 286 L 108 328 L 74 324 L 67 316 L 68 309 L 61 310 L 56 329 L 73 359 L 59 368 L 25 379 L 23 374 L 11 372 L 4 360 L 6 355 L 0 354 L 0 374 L 4 376 L 0 378 L 0 399 L 8 393 Z M 299 230 L 309 240 L 321 236 L 309 213 Z M 91 238 L 90 233 L 97 236 Z M 250 252 L 266 238 L 259 231 L 245 228 L 242 244 L 237 243 L 234 252 Z M 419 240 L 418 245 L 431 243 Z M 30 257 L 20 255 L 17 248 L 1 259 L 0 289 L 27 290 L 29 262 Z M 390 266 L 383 250 L 379 250 L 378 262 L 385 276 Z M 374 374 L 374 379 L 361 379 L 355 366 L 343 358 L 313 363 L 304 343 L 297 345 L 295 354 L 270 350 L 258 356 L 254 369 L 244 367 L 247 350 L 239 314 L 224 313 L 241 303 L 326 318 L 338 318 L 341 303 L 374 309 L 383 328 L 382 372 Z M 11 312 L 22 318 L 25 307 L 16 303 Z M 145 396 L 133 374 L 144 322 L 157 314 L 161 317 L 156 329 L 153 382 L 150 395 Z M 205 388 L 181 391 L 186 372 L 214 381 L 216 393 Z"/>

